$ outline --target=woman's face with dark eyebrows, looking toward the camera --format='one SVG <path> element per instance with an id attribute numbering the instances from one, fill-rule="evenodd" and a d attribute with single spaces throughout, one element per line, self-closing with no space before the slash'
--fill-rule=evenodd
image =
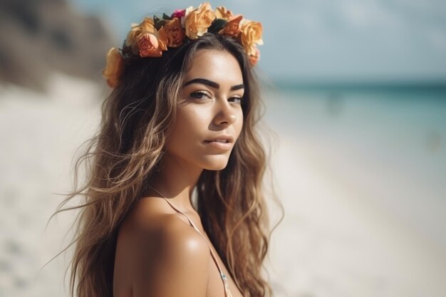
<path id="1" fill-rule="evenodd" d="M 201 50 L 185 73 L 167 155 L 181 165 L 222 170 L 242 131 L 242 70 L 227 51 Z"/>

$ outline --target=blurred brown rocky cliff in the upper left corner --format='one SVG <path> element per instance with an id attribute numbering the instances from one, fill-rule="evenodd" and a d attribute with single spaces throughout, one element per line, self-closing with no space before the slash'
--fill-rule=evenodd
<path id="1" fill-rule="evenodd" d="M 110 33 L 66 0 L 0 0 L 0 81 L 45 90 L 59 71 L 98 80 Z"/>

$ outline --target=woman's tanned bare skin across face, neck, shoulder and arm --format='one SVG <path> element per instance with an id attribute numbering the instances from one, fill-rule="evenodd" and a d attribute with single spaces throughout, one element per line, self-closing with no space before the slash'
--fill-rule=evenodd
<path id="1" fill-rule="evenodd" d="M 244 88 L 240 66 L 226 51 L 197 52 L 187 71 L 174 130 L 152 187 L 203 230 L 191 194 L 203 170 L 222 170 L 242 131 Z M 209 140 L 232 138 L 229 148 Z M 210 214 L 212 215 L 212 214 Z M 217 260 L 234 297 L 242 297 Z M 205 239 L 157 192 L 140 199 L 118 234 L 114 297 L 224 297 L 224 285 Z"/>

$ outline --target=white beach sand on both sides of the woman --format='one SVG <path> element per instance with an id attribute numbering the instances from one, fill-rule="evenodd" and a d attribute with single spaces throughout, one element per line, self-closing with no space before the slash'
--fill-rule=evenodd
<path id="1" fill-rule="evenodd" d="M 61 201 L 53 192 L 70 186 L 74 151 L 98 123 L 100 101 L 91 98 L 105 91 L 64 75 L 51 81 L 49 95 L 0 86 L 0 296 L 68 296 L 68 256 L 39 269 L 68 243 L 73 214 L 44 228 Z M 435 236 L 445 226 L 417 224 L 426 209 L 432 222 L 441 220 L 442 189 L 423 199 L 430 183 L 378 162 L 379 147 L 370 158 L 336 141 L 348 135 L 328 137 L 325 126 L 303 112 L 295 120 L 287 108 L 283 98 L 269 101 L 267 117 L 279 136 L 273 160 L 286 211 L 271 241 L 276 296 L 446 296 L 445 245 Z M 412 213 L 395 210 L 410 209 L 401 197 L 414 203 Z"/>

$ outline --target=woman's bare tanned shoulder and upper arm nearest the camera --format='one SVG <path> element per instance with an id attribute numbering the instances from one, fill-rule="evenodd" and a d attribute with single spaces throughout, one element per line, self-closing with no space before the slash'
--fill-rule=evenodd
<path id="1" fill-rule="evenodd" d="M 115 255 L 115 296 L 205 296 L 209 246 L 163 199 L 146 198 L 123 222 Z M 121 293 L 122 292 L 122 293 Z"/>

